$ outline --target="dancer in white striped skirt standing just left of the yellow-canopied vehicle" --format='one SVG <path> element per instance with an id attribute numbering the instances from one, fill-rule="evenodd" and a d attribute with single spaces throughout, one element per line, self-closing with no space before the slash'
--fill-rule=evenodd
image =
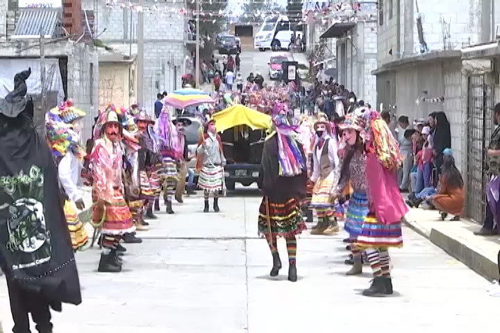
<path id="1" fill-rule="evenodd" d="M 205 207 L 208 212 L 208 198 L 213 194 L 213 210 L 219 212 L 219 191 L 224 188 L 224 167 L 226 157 L 222 150 L 222 141 L 217 134 L 215 121 L 203 125 L 203 136 L 197 148 L 197 170 L 199 170 L 198 186 L 203 189 Z"/>

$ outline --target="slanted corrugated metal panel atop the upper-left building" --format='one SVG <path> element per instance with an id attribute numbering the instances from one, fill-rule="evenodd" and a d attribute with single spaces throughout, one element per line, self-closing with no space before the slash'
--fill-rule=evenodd
<path id="1" fill-rule="evenodd" d="M 40 29 L 44 37 L 55 37 L 56 27 L 60 21 L 61 10 L 44 8 L 19 9 L 14 36 L 20 38 L 40 37 Z"/>

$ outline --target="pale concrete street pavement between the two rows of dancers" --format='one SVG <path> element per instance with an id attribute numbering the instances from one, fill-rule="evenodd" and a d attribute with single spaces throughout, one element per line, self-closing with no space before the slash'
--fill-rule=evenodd
<path id="1" fill-rule="evenodd" d="M 283 269 L 269 278 L 272 258 L 257 237 L 260 195 L 240 189 L 220 200 L 222 212 L 204 214 L 203 198 L 185 198 L 174 216 L 159 214 L 142 244 L 128 244 L 124 271 L 97 273 L 99 250 L 78 253 L 83 292 L 79 307 L 55 314 L 54 332 L 467 332 L 491 330 L 498 298 L 490 283 L 405 228 L 405 246 L 393 250 L 394 296 L 366 298 L 370 281 L 348 278 L 341 239 L 298 240 L 299 281 L 287 280 L 284 241 L 278 241 Z M 5 282 L 0 318 L 12 325 Z M 385 321 L 381 321 L 384 318 Z M 370 325 L 373 321 L 380 325 Z M 363 321 L 363 323 L 361 323 Z"/>

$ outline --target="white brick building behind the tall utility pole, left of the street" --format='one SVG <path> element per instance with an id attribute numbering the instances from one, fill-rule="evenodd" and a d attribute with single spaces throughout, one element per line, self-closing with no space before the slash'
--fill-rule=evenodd
<path id="1" fill-rule="evenodd" d="M 138 1 L 131 1 L 137 5 Z M 181 87 L 181 76 L 185 74 L 185 59 L 188 56 L 185 24 L 187 17 L 178 14 L 185 8 L 185 1 L 160 3 L 144 0 L 144 7 L 158 6 L 158 11 L 144 12 L 144 107 L 153 110 L 158 92 L 172 92 Z M 130 8 L 113 6 L 99 1 L 97 31 L 99 40 L 116 52 L 135 58 L 137 56 L 138 12 Z M 165 10 L 167 6 L 168 10 Z M 131 50 L 131 51 L 130 51 Z M 135 78 L 135 67 L 130 64 L 131 78 Z M 135 83 L 128 87 L 134 99 Z M 118 103 L 119 101 L 116 101 Z M 133 101 L 135 102 L 135 101 Z M 126 105 L 128 106 L 128 105 Z"/>

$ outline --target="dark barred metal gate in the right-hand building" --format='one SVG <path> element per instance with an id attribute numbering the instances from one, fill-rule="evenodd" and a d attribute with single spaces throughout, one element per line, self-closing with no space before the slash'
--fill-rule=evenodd
<path id="1" fill-rule="evenodd" d="M 482 223 L 486 151 L 494 126 L 494 88 L 485 83 L 484 75 L 469 76 L 467 99 L 467 216 Z"/>

